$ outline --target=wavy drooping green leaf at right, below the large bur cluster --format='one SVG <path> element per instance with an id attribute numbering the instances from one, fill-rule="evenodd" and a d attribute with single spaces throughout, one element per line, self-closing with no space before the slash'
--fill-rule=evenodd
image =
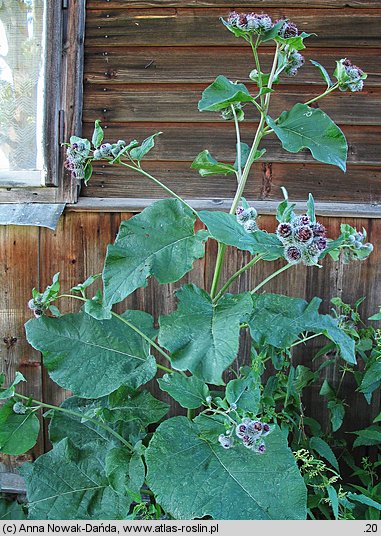
<path id="1" fill-rule="evenodd" d="M 302 332 L 322 333 L 339 348 L 342 358 L 356 363 L 355 344 L 329 315 L 321 315 L 321 300 L 310 303 L 300 298 L 279 294 L 255 294 L 254 309 L 249 319 L 251 336 L 257 343 L 287 348 Z"/>

